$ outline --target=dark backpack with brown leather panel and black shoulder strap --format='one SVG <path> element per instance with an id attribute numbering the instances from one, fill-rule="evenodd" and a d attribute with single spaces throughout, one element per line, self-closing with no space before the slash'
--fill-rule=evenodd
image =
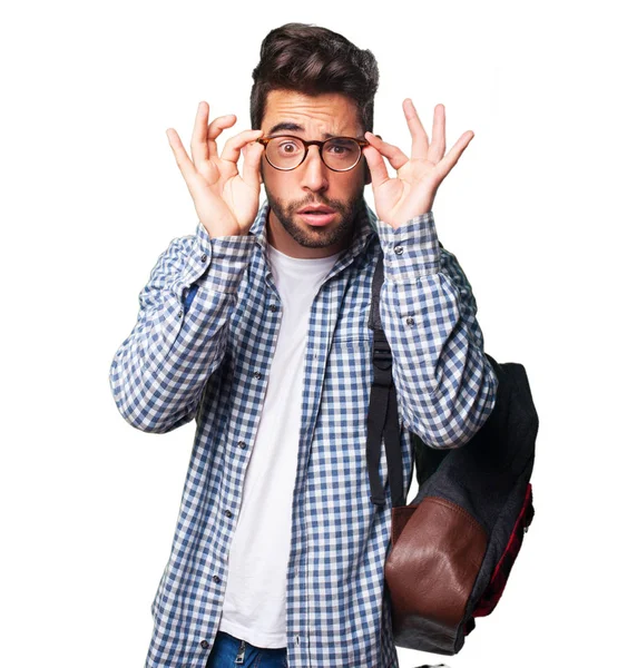
<path id="1" fill-rule="evenodd" d="M 454 655 L 474 629 L 474 619 L 498 603 L 533 518 L 529 481 L 538 414 L 525 367 L 486 355 L 499 381 L 492 413 L 461 448 L 433 449 L 411 434 L 419 492 L 405 505 L 392 355 L 379 314 L 382 283 L 380 257 L 369 321 L 374 381 L 366 461 L 371 500 L 383 507 L 378 474 L 383 439 L 392 495 L 385 596 L 394 644 Z"/>

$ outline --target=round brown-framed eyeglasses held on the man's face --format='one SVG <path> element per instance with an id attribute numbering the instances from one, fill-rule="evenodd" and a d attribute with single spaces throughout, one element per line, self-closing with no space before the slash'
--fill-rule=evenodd
<path id="1" fill-rule="evenodd" d="M 362 148 L 369 146 L 363 139 L 353 137 L 332 137 L 325 141 L 305 141 L 298 137 L 259 137 L 265 147 L 266 160 L 282 171 L 296 169 L 307 157 L 310 146 L 317 146 L 322 161 L 333 171 L 349 171 L 362 157 Z"/>

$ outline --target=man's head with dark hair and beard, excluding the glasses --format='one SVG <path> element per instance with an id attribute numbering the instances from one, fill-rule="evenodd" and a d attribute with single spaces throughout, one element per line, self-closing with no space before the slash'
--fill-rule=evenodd
<path id="1" fill-rule="evenodd" d="M 372 130 L 376 61 L 336 32 L 301 23 L 272 30 L 253 79 L 252 127 L 264 130 L 264 137 L 363 139 Z M 290 255 L 319 257 L 345 247 L 370 183 L 363 157 L 353 169 L 334 171 L 320 150 L 311 146 L 305 160 L 286 171 L 262 160 L 271 206 L 268 238 Z M 307 207 L 332 212 L 307 215 Z"/>

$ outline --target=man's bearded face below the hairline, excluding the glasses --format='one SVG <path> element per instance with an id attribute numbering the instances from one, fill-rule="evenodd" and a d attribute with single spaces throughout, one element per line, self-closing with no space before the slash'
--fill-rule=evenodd
<path id="1" fill-rule="evenodd" d="M 341 94 L 315 97 L 272 90 L 262 120 L 263 136 L 292 135 L 301 139 L 330 137 L 363 139 L 364 128 L 353 100 Z M 345 248 L 362 205 L 366 183 L 364 158 L 349 171 L 333 171 L 322 161 L 320 148 L 310 146 L 295 169 L 281 171 L 262 158 L 262 178 L 271 207 L 268 242 L 292 257 L 325 257 Z M 331 207 L 331 215 L 307 215 L 311 205 Z"/>

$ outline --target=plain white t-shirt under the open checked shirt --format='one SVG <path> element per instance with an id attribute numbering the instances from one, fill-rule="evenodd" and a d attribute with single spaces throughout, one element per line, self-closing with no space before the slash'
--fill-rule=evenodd
<path id="1" fill-rule="evenodd" d="M 287 645 L 285 592 L 310 312 L 340 254 L 302 259 L 270 245 L 267 254 L 283 313 L 231 544 L 219 630 L 276 648 Z"/>

